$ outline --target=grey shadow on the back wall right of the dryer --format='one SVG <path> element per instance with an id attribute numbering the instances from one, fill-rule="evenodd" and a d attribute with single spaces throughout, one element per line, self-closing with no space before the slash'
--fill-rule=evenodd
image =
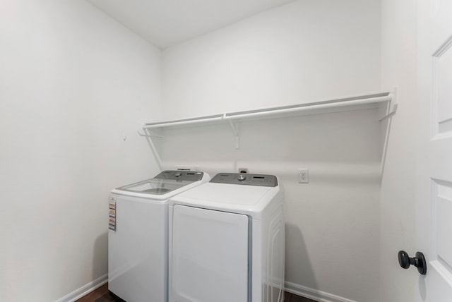
<path id="1" fill-rule="evenodd" d="M 290 223 L 285 224 L 285 267 L 297 267 L 299 270 L 296 276 L 288 276 L 286 270 L 286 291 L 300 294 L 303 289 L 297 284 L 319 290 L 302 231 L 297 225 Z M 295 281 L 296 284 L 287 282 L 287 279 Z"/>

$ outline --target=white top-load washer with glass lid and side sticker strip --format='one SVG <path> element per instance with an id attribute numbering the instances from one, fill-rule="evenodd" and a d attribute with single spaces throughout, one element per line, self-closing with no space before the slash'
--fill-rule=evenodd
<path id="1" fill-rule="evenodd" d="M 108 289 L 127 302 L 166 302 L 168 200 L 209 181 L 201 171 L 162 171 L 109 195 Z"/>

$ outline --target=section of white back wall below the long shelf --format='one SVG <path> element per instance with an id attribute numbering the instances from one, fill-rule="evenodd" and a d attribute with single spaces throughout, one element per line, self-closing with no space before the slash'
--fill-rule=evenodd
<path id="1" fill-rule="evenodd" d="M 278 175 L 285 188 L 287 290 L 377 302 L 377 120 L 370 109 L 243 122 L 240 150 L 227 124 L 174 128 L 164 133 L 162 159 L 167 168 L 211 175 L 239 167 Z M 298 168 L 309 169 L 309 184 L 297 183 Z"/>

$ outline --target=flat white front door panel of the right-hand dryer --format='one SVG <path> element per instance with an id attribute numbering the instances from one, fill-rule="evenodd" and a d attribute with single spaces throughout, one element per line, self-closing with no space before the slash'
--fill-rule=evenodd
<path id="1" fill-rule="evenodd" d="M 169 301 L 248 301 L 248 220 L 174 205 Z"/>

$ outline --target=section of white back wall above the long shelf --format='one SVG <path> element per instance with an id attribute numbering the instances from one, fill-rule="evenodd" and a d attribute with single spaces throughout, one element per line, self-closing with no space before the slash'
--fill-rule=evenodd
<path id="1" fill-rule="evenodd" d="M 295 1 L 163 52 L 167 118 L 379 89 L 379 1 Z"/>

